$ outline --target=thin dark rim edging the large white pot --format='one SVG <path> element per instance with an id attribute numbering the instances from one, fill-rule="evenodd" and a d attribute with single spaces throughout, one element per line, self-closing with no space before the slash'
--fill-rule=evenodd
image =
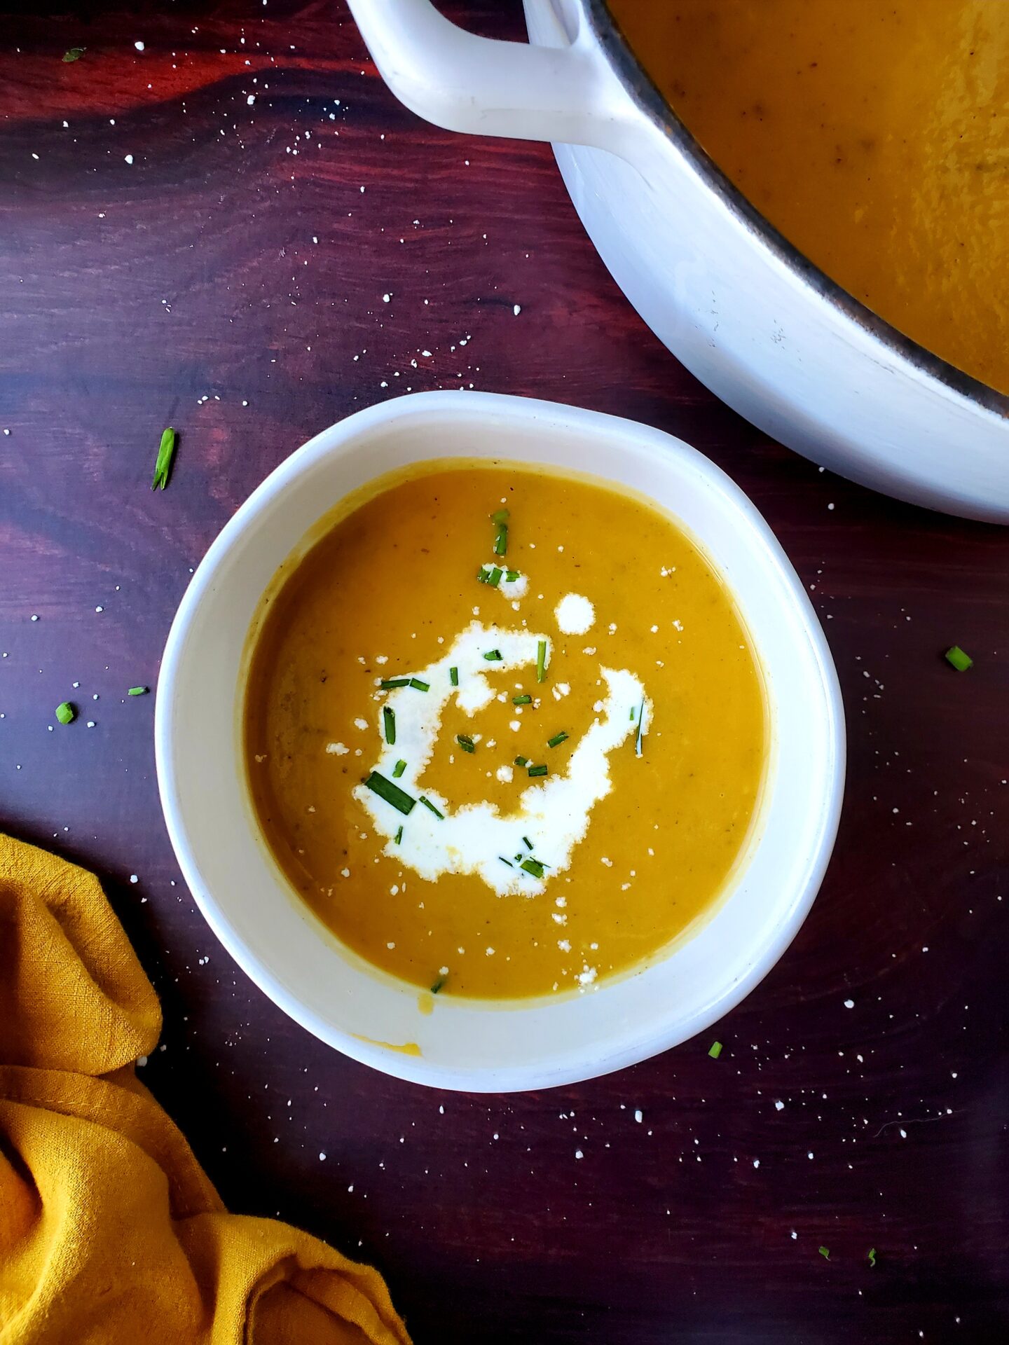
<path id="1" fill-rule="evenodd" d="M 979 404 L 987 410 L 1000 416 L 1009 416 L 1009 395 L 989 387 L 981 379 L 965 374 L 962 369 L 950 364 L 940 355 L 932 354 L 924 346 L 909 336 L 904 336 L 896 327 L 884 317 L 873 313 L 858 299 L 842 289 L 837 281 L 831 280 L 814 262 L 805 257 L 798 247 L 788 242 L 774 225 L 771 225 L 739 187 L 731 182 L 714 160 L 701 148 L 700 143 L 687 130 L 673 108 L 652 82 L 651 77 L 634 54 L 634 48 L 624 36 L 620 24 L 609 12 L 605 0 L 584 0 L 585 13 L 593 34 L 605 51 L 611 65 L 620 75 L 623 83 L 634 97 L 638 106 L 648 120 L 670 140 L 685 159 L 708 182 L 712 190 L 721 198 L 729 210 L 743 221 L 748 231 L 756 234 L 765 247 L 770 247 L 791 270 L 829 300 L 834 308 L 841 309 L 846 317 L 857 323 L 884 346 L 901 355 L 923 374 L 928 374 L 938 382 L 944 383 L 962 397 Z"/>

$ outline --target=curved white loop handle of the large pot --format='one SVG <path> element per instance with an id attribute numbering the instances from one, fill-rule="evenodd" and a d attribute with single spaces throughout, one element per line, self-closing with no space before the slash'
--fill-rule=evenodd
<path id="1" fill-rule="evenodd" d="M 574 42 L 539 47 L 478 38 L 431 0 L 348 3 L 379 74 L 417 116 L 447 130 L 623 152 L 626 94 L 584 24 Z"/>

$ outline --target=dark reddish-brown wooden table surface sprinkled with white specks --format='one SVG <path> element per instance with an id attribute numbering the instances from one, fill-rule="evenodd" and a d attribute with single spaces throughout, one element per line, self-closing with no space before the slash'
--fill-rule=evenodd
<path id="1" fill-rule="evenodd" d="M 624 301 L 549 149 L 421 124 L 339 0 L 17 8 L 0 824 L 101 873 L 164 1005 L 144 1079 L 225 1198 L 378 1264 L 418 1345 L 1005 1340 L 1009 534 L 822 473 L 721 406 Z M 522 35 L 518 0 L 452 12 Z M 710 455 L 809 585 L 849 717 L 834 859 L 764 983 L 704 1040 L 521 1096 L 386 1079 L 273 1007 L 182 882 L 153 697 L 125 698 L 273 467 L 361 406 L 459 386 Z"/>

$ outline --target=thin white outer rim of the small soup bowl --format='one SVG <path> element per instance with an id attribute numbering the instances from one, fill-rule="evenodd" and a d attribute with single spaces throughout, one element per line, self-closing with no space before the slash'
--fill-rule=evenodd
<path id="1" fill-rule="evenodd" d="M 661 453 L 663 441 L 667 441 L 681 453 L 686 451 L 692 456 L 698 469 L 710 483 L 728 495 L 731 504 L 741 511 L 747 522 L 755 529 L 759 543 L 768 554 L 770 564 L 774 564 L 779 570 L 786 588 L 790 590 L 790 599 L 795 603 L 803 635 L 809 642 L 815 663 L 826 707 L 827 724 L 825 740 L 829 741 L 830 746 L 830 776 L 825 781 L 815 842 L 809 846 L 809 862 L 805 868 L 803 880 L 796 882 L 795 894 L 788 909 L 771 927 L 767 943 L 759 955 L 749 962 L 745 971 L 729 987 L 718 993 L 716 998 L 696 1005 L 683 1015 L 681 1022 L 687 1025 L 687 1030 L 678 1030 L 666 1024 L 655 1022 L 651 1032 L 634 1034 L 618 1044 L 618 1048 L 601 1046 L 600 1054 L 596 1057 L 592 1057 L 588 1052 L 584 1053 L 581 1064 L 565 1064 L 562 1067 L 552 1063 L 507 1067 L 490 1065 L 487 1071 L 478 1073 L 470 1067 L 443 1065 L 426 1061 L 422 1056 L 404 1054 L 396 1048 L 389 1049 L 382 1042 L 357 1037 L 350 1030 L 336 1026 L 332 1021 L 316 1013 L 297 994 L 292 993 L 280 972 L 274 971 L 268 960 L 264 960 L 246 943 L 245 937 L 231 924 L 226 904 L 221 902 L 203 882 L 199 862 L 190 845 L 184 824 L 172 736 L 175 724 L 175 683 L 180 664 L 186 656 L 190 628 L 207 590 L 217 581 L 222 562 L 244 533 L 246 525 L 252 523 L 262 510 L 269 508 L 270 502 L 283 492 L 288 482 L 296 477 L 303 468 L 309 468 L 315 463 L 316 455 L 344 452 L 355 440 L 367 437 L 375 429 L 385 429 L 390 422 L 401 417 L 412 417 L 417 413 L 426 416 L 435 413 L 443 420 L 455 418 L 460 413 L 471 417 L 474 409 L 480 405 L 486 406 L 488 413 L 499 418 L 511 418 L 519 432 L 525 424 L 535 421 L 538 417 L 549 417 L 554 422 L 560 420 L 568 426 L 572 424 L 588 426 L 604 422 L 611 432 L 616 426 L 626 426 L 627 433 L 636 433 L 639 440 L 635 447 L 646 453 Z M 518 456 L 521 460 L 521 455 Z M 530 456 L 529 461 L 535 463 L 535 456 Z M 702 545 L 706 545 L 706 539 L 700 533 L 697 534 L 697 539 Z M 386 402 L 354 412 L 319 434 L 315 434 L 284 459 L 227 521 L 196 568 L 168 632 L 155 705 L 155 759 L 165 826 L 182 874 L 203 919 L 253 985 L 301 1028 L 305 1028 L 327 1045 L 334 1046 L 361 1064 L 371 1065 L 383 1073 L 410 1083 L 465 1092 L 496 1093 L 580 1083 L 647 1060 L 706 1030 L 735 1009 L 768 975 L 805 921 L 833 853 L 844 800 L 846 740 L 844 702 L 837 670 L 809 594 L 770 525 L 743 490 L 716 463 L 673 434 L 603 412 L 499 393 L 467 391 L 460 401 L 457 391 L 443 390 L 393 397 Z M 492 1002 L 488 1005 L 488 1010 L 500 1011 L 500 1005 Z"/>

